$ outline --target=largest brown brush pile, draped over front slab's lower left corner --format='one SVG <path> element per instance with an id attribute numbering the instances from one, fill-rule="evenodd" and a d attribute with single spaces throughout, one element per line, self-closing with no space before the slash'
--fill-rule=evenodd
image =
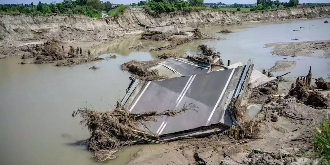
<path id="1" fill-rule="evenodd" d="M 145 122 L 157 121 L 158 116 L 177 116 L 187 110 L 196 110 L 196 108 L 198 107 L 194 104 L 188 104 L 178 110 L 138 114 L 119 108 L 104 113 L 80 108 L 74 111 L 72 116 L 80 115 L 82 117 L 80 123 L 87 126 L 91 132 L 87 147 L 90 151 L 94 151 L 96 161 L 103 162 L 116 158 L 113 154 L 122 146 L 133 144 L 134 140 L 142 139 L 160 143 L 158 135 L 145 131 Z"/>

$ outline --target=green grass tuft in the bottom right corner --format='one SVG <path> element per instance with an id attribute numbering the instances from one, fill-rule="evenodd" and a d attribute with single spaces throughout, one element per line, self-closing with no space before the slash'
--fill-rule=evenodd
<path id="1" fill-rule="evenodd" d="M 315 156 L 320 158 L 320 164 L 330 165 L 330 116 L 328 120 L 316 127 L 314 133 Z"/>

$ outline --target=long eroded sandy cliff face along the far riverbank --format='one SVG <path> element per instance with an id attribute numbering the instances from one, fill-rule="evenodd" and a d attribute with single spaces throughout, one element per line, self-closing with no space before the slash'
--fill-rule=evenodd
<path id="1" fill-rule="evenodd" d="M 179 27 L 229 25 L 250 21 L 271 21 L 289 18 L 330 17 L 330 6 L 291 8 L 265 12 L 230 12 L 193 10 L 149 15 L 144 8 L 129 8 L 120 16 L 90 18 L 87 16 L 0 15 L 0 43 L 12 45 L 28 40 L 95 41 L 108 40 L 148 26 L 177 24 Z"/>

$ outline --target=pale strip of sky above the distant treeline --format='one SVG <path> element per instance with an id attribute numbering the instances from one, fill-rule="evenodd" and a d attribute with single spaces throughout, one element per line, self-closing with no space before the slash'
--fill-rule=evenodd
<path id="1" fill-rule="evenodd" d="M 104 0 L 106 1 L 106 0 Z M 138 3 L 140 0 L 109 0 L 111 3 L 115 4 L 131 4 L 131 3 Z M 288 2 L 289 0 L 280 0 L 281 2 Z M 0 0 L 0 4 L 16 4 L 16 3 L 23 3 L 23 4 L 38 4 L 39 0 Z M 42 3 L 51 3 L 55 2 L 55 0 L 41 0 Z M 56 2 L 62 2 L 62 0 L 57 0 Z M 205 3 L 218 3 L 222 2 L 225 4 L 233 4 L 233 3 L 256 3 L 257 0 L 204 0 Z M 299 0 L 299 3 L 330 3 L 330 0 Z"/>

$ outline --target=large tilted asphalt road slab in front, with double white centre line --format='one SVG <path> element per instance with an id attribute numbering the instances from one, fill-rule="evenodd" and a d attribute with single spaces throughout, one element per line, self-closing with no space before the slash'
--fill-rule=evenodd
<path id="1" fill-rule="evenodd" d="M 176 110 L 184 104 L 193 103 L 197 111 L 188 110 L 178 116 L 161 116 L 155 122 L 146 122 L 141 129 L 160 136 L 194 133 L 198 130 L 228 129 L 235 119 L 227 107 L 241 92 L 246 78 L 250 75 L 246 66 L 211 73 L 193 74 L 161 81 L 132 82 L 127 95 L 121 102 L 123 108 L 132 113 L 146 111 Z M 134 89 L 131 89 L 134 88 Z M 221 130 L 220 129 L 220 130 Z M 210 132 L 210 131 L 209 131 Z M 211 131 L 212 132 L 212 131 Z"/>

